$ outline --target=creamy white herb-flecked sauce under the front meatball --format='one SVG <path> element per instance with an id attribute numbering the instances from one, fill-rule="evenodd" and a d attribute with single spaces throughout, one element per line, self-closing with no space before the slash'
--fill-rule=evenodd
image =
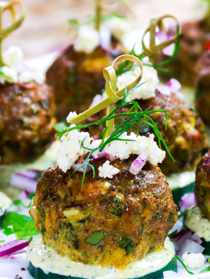
<path id="1" fill-rule="evenodd" d="M 117 269 L 111 266 L 91 266 L 69 260 L 68 257 L 58 255 L 53 248 L 45 247 L 39 235 L 34 238 L 27 248 L 27 266 L 29 262 L 43 272 L 49 272 L 88 279 L 125 279 L 137 278 L 155 272 L 166 266 L 175 255 L 173 243 L 167 237 L 163 248 L 159 252 L 151 252 L 137 262 L 130 263 L 125 269 Z"/>

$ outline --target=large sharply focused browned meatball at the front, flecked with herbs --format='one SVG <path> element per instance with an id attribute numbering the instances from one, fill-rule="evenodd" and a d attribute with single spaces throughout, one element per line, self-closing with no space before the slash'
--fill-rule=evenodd
<path id="1" fill-rule="evenodd" d="M 93 160 L 95 178 L 87 173 L 83 190 L 82 173 L 64 173 L 57 164 L 43 173 L 30 214 L 45 245 L 76 262 L 116 268 L 161 249 L 177 206 L 159 167 L 147 163 L 129 173 L 135 158 L 115 159 L 120 172 L 112 179 L 98 174 L 106 160 Z"/>

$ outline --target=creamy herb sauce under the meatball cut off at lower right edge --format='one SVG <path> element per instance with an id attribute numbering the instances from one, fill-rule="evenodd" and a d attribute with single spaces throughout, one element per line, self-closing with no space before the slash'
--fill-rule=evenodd
<path id="1" fill-rule="evenodd" d="M 203 237 L 205 241 L 210 241 L 210 222 L 208 219 L 202 218 L 201 210 L 198 206 L 187 213 L 184 223 L 199 237 Z"/>

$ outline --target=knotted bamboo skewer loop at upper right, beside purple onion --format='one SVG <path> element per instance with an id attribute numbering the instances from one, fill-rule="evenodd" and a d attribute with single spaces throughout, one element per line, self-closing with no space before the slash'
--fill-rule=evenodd
<path id="1" fill-rule="evenodd" d="M 149 58 L 154 58 L 155 55 L 157 55 L 163 48 L 169 46 L 172 43 L 175 43 L 177 40 L 177 34 L 173 36 L 173 38 L 170 38 L 169 40 L 166 40 L 158 45 L 155 44 L 155 28 L 158 26 L 159 30 L 162 30 L 164 33 L 165 31 L 165 26 L 163 24 L 163 19 L 164 18 L 173 18 L 176 22 L 176 24 L 179 26 L 179 23 L 177 19 L 173 15 L 163 15 L 161 17 L 158 17 L 155 19 L 155 17 L 151 18 L 150 26 L 146 29 L 143 39 L 142 39 L 142 46 L 144 49 L 144 54 L 145 56 L 149 56 Z M 147 32 L 150 32 L 150 45 L 147 47 L 144 43 L 144 37 L 147 34 Z M 179 34 L 181 33 L 181 27 L 179 26 Z"/>

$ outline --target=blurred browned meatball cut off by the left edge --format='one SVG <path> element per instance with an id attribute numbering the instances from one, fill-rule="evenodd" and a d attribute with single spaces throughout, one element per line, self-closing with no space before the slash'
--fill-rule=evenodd
<path id="1" fill-rule="evenodd" d="M 29 162 L 42 154 L 55 135 L 55 100 L 48 85 L 0 85 L 1 163 Z"/>

